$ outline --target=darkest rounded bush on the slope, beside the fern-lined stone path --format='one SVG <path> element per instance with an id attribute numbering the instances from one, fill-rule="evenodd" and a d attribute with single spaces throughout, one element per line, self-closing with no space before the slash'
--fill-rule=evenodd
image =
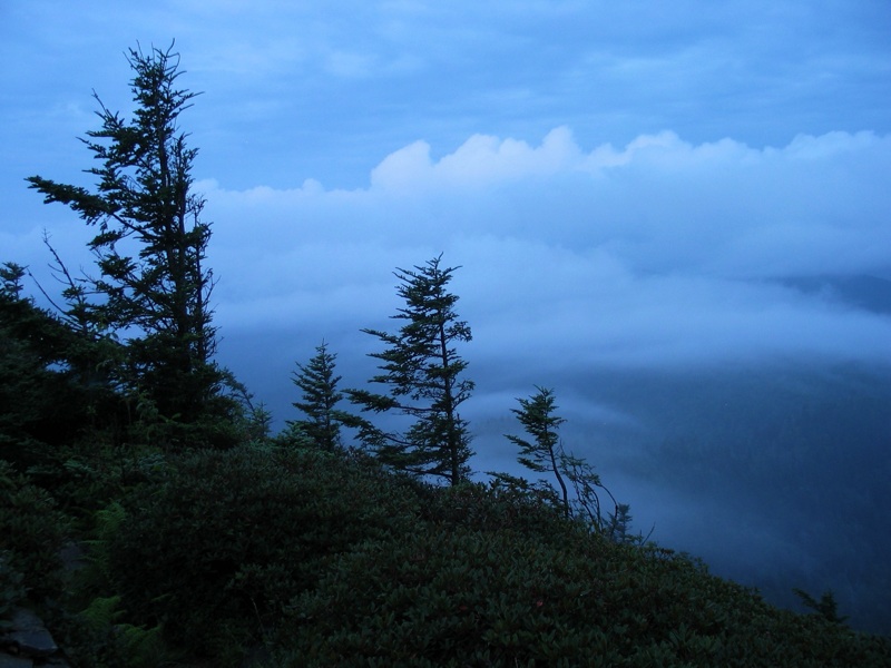
<path id="1" fill-rule="evenodd" d="M 327 558 L 407 533 L 419 512 L 372 463 L 249 448 L 188 455 L 125 505 L 109 543 L 121 606 L 217 657 L 260 642 Z"/>

